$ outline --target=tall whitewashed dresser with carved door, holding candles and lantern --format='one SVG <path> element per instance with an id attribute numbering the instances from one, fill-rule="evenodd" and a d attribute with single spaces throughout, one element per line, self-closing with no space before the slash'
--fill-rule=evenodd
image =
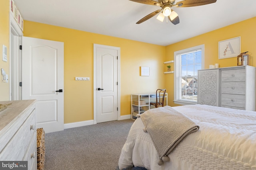
<path id="1" fill-rule="evenodd" d="M 198 104 L 255 111 L 256 67 L 198 70 Z"/>

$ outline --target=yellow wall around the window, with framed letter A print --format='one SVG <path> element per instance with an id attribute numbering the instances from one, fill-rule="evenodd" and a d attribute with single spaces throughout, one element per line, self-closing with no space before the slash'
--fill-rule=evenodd
<path id="1" fill-rule="evenodd" d="M 227 27 L 180 41 L 166 46 L 166 61 L 174 60 L 174 51 L 204 44 L 204 66 L 219 63 L 219 67 L 236 66 L 237 58 L 218 59 L 218 42 L 234 37 L 241 37 L 241 53 L 249 51 L 249 65 L 256 66 L 256 17 L 244 20 Z M 173 66 L 173 65 L 172 65 Z M 168 91 L 168 105 L 175 105 L 174 100 L 174 74 L 166 74 L 166 90 Z"/>

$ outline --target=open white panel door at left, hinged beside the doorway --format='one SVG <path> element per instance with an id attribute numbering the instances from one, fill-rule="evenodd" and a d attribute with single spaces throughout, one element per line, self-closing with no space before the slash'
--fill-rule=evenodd
<path id="1" fill-rule="evenodd" d="M 64 129 L 63 42 L 22 37 L 22 100 L 30 99 L 37 100 L 36 128 Z"/>

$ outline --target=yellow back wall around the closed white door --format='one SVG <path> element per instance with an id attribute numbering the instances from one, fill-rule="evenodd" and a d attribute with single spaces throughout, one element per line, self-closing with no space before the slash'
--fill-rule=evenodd
<path id="1" fill-rule="evenodd" d="M 24 21 L 24 36 L 64 42 L 64 123 L 93 119 L 93 44 L 121 49 L 121 115 L 130 114 L 130 94 L 164 88 L 165 47 Z M 150 76 L 140 76 L 140 66 Z M 90 77 L 75 81 L 74 77 Z"/>

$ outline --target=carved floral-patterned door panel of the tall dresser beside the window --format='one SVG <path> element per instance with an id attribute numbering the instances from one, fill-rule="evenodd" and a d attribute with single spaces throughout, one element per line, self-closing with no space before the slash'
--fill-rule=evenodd
<path id="1" fill-rule="evenodd" d="M 198 70 L 198 104 L 219 106 L 219 69 Z"/>

